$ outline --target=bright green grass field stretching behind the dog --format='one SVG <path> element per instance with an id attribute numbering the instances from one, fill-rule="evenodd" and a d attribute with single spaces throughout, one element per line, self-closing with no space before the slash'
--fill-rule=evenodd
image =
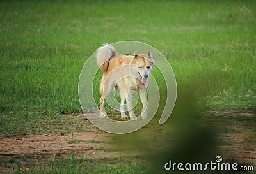
<path id="1" fill-rule="evenodd" d="M 81 112 L 79 74 L 104 42 L 157 48 L 175 73 L 178 101 L 191 91 L 200 110 L 256 109 L 255 1 L 0 4 L 3 136 L 86 131 L 60 114 Z"/>

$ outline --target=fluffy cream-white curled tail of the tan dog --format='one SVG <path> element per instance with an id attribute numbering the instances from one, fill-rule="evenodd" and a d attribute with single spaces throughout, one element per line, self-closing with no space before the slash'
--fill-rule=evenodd
<path id="1" fill-rule="evenodd" d="M 108 64 L 111 57 L 115 57 L 117 55 L 116 49 L 109 45 L 108 43 L 104 43 L 102 47 L 97 50 L 97 64 L 102 72 L 106 72 L 108 70 Z"/>

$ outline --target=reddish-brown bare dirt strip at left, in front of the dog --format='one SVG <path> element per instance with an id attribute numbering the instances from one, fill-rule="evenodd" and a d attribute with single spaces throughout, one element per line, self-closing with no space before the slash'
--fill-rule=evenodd
<path id="1" fill-rule="evenodd" d="M 72 117 L 72 115 L 67 115 Z M 84 117 L 83 113 L 76 117 Z M 88 120 L 83 123 L 88 128 L 86 132 L 56 133 L 56 134 L 29 134 L 23 136 L 0 136 L 0 173 L 11 171 L 14 161 L 24 166 L 35 166 L 35 163 L 52 157 L 67 157 L 74 154 L 83 159 L 99 159 L 116 163 L 122 156 L 134 157 L 135 153 L 114 152 L 111 149 L 112 134 L 105 133 L 93 126 Z M 30 164 L 29 164 L 30 163 Z"/>

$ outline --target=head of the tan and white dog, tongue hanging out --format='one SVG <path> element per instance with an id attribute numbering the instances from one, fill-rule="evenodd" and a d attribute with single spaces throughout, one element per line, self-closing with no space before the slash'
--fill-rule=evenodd
<path id="1" fill-rule="evenodd" d="M 141 79 L 145 87 L 147 87 L 148 78 L 153 71 L 154 62 L 150 50 L 148 50 L 146 54 L 139 54 L 138 51 L 134 52 L 132 64 L 134 64 L 134 70 L 138 73 L 136 76 Z"/>

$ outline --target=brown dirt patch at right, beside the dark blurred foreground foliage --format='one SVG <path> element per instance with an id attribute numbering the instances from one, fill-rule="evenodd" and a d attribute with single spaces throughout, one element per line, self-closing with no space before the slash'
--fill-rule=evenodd
<path id="1" fill-rule="evenodd" d="M 207 115 L 209 122 L 214 122 L 220 130 L 222 154 L 256 167 L 256 111 L 221 110 L 209 111 Z"/>

